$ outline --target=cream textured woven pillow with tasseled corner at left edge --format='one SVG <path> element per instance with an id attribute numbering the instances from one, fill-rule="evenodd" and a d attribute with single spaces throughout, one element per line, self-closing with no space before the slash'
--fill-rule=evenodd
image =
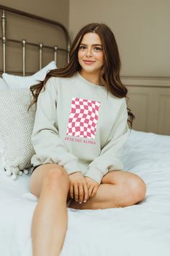
<path id="1" fill-rule="evenodd" d="M 30 90 L 2 90 L 0 93 L 0 158 L 6 175 L 17 179 L 23 172 L 32 172 L 31 158 L 35 151 L 31 142 L 35 105 L 29 111 Z M 28 170 L 25 170 L 28 168 Z"/>

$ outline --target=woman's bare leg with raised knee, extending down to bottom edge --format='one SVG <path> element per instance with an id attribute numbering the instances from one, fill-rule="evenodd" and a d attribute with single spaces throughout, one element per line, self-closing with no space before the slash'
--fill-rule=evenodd
<path id="1" fill-rule="evenodd" d="M 33 256 L 58 256 L 67 229 L 68 174 L 53 163 L 39 166 L 31 176 L 30 191 L 39 197 L 32 218 Z"/>

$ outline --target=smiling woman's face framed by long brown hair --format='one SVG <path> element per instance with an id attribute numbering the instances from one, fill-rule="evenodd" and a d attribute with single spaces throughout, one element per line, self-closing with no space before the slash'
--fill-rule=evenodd
<path id="1" fill-rule="evenodd" d="M 78 51 L 79 64 L 81 71 L 97 74 L 104 64 L 104 53 L 102 41 L 96 33 L 86 33 L 81 40 Z"/>

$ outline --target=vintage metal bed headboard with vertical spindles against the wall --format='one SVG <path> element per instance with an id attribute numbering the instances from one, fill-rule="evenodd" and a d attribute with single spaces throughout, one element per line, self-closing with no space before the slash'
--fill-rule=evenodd
<path id="1" fill-rule="evenodd" d="M 19 11 L 17 9 L 13 9 L 10 7 L 5 7 L 3 5 L 0 5 L 0 9 L 2 10 L 2 15 L 1 15 L 1 26 L 2 26 L 2 37 L 0 37 L 0 39 L 2 40 L 2 56 L 3 56 L 3 69 L 0 69 L 0 72 L 6 72 L 6 41 L 10 41 L 10 42 L 14 42 L 14 43 L 21 43 L 20 40 L 14 40 L 14 39 L 10 39 L 10 38 L 6 38 L 6 12 L 11 12 L 14 14 L 18 14 L 21 15 L 23 17 L 29 17 L 33 20 L 38 20 L 41 22 L 46 22 L 48 24 L 52 24 L 52 25 L 56 25 L 57 27 L 60 27 L 61 30 L 63 30 L 63 33 L 65 35 L 66 38 L 66 45 L 67 48 L 58 48 L 57 46 L 46 46 L 43 45 L 42 43 L 31 43 L 31 42 L 27 42 L 25 39 L 22 40 L 22 73 L 23 76 L 25 76 L 26 73 L 26 46 L 30 45 L 30 46 L 37 46 L 39 47 L 39 67 L 40 69 L 42 68 L 42 50 L 43 48 L 50 48 L 53 49 L 53 53 L 54 53 L 54 61 L 56 64 L 57 61 L 57 52 L 58 51 L 65 51 L 67 53 L 67 61 L 68 61 L 68 57 L 69 57 L 69 52 L 70 52 L 70 46 L 71 46 L 71 40 L 68 34 L 68 30 L 66 29 L 66 27 L 64 27 L 60 22 L 56 22 L 54 20 L 48 20 L 44 17 L 39 17 L 37 15 L 34 14 L 30 14 L 27 12 L 22 12 Z"/>

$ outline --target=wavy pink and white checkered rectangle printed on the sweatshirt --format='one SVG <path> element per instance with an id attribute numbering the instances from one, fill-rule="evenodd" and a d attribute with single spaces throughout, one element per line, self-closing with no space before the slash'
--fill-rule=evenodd
<path id="1" fill-rule="evenodd" d="M 72 98 L 67 135 L 94 139 L 99 116 L 99 101 Z"/>

